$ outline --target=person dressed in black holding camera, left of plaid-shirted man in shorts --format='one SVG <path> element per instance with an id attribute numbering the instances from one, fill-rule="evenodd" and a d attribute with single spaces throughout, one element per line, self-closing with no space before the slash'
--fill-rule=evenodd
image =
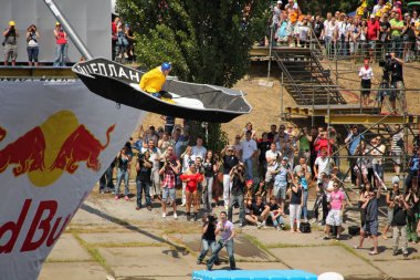
<path id="1" fill-rule="evenodd" d="M 144 154 L 138 154 L 136 163 L 136 186 L 137 186 L 137 207 L 136 210 L 141 208 L 141 196 L 145 193 L 146 207 L 151 210 L 150 201 L 150 185 L 151 185 L 151 166 L 153 163 L 149 160 L 150 152 L 146 151 Z"/>

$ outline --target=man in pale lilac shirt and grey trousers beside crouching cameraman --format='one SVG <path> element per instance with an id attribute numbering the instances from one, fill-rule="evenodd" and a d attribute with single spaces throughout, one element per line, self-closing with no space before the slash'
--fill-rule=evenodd
<path id="1" fill-rule="evenodd" d="M 233 249 L 233 238 L 235 236 L 233 224 L 227 219 L 227 212 L 220 212 L 220 221 L 218 222 L 216 230 L 216 235 L 220 235 L 220 240 L 216 245 L 216 249 L 211 255 L 209 261 L 207 262 L 207 269 L 211 270 L 216 260 L 218 259 L 218 253 L 221 251 L 223 247 L 227 248 L 229 265 L 231 270 L 235 270 L 235 261 L 234 261 L 234 249 Z"/>

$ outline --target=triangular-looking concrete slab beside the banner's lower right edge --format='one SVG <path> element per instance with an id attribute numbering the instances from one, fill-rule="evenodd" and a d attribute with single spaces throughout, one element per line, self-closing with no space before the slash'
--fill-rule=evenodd
<path id="1" fill-rule="evenodd" d="M 70 234 L 63 234 L 46 261 L 91 261 L 92 257 Z"/>

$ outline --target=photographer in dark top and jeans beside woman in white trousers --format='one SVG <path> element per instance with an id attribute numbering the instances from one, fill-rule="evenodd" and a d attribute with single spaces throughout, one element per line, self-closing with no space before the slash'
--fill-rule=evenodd
<path id="1" fill-rule="evenodd" d="M 228 219 L 232 220 L 233 205 L 239 205 L 239 226 L 242 227 L 245 222 L 244 193 L 245 193 L 245 170 L 242 164 L 238 164 L 230 172 L 230 180 L 232 184 Z"/>

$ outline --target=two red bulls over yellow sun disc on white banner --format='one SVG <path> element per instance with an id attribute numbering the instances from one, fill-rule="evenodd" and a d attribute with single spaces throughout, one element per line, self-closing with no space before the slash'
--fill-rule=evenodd
<path id="1" fill-rule="evenodd" d="M 82 162 L 98 172 L 99 155 L 108 144 L 115 124 L 106 131 L 106 142 L 102 144 L 70 111 L 60 111 L 40 126 L 32 128 L 13 143 L 0 149 L 0 173 L 8 167 L 14 176 L 28 174 L 31 183 L 45 187 L 64 173 L 74 174 Z M 0 127 L 0 141 L 7 131 Z"/>

